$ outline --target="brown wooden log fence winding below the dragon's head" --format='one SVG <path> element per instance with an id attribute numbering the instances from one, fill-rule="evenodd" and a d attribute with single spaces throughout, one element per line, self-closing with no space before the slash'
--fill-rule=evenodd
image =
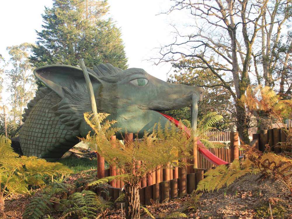
<path id="1" fill-rule="evenodd" d="M 112 137 L 112 140 L 115 136 Z M 211 148 L 210 151 L 220 159 L 230 163 L 234 159 L 241 159 L 244 156 L 244 151 L 239 149 L 238 133 L 230 132 L 230 148 Z M 273 128 L 270 130 L 260 130 L 260 133 L 253 134 L 253 141 L 251 146 L 261 151 L 265 150 L 266 145 L 274 148 L 275 152 L 280 152 L 280 148 L 277 147 L 279 142 L 286 140 L 286 134 L 281 128 Z M 125 136 L 125 144 L 133 141 L 133 134 L 128 133 Z M 198 183 L 204 178 L 204 173 L 210 168 L 214 168 L 207 159 L 205 159 L 200 153 L 197 154 L 198 168 L 181 167 L 181 168 L 169 168 L 161 169 L 159 166 L 148 173 L 141 180 L 140 203 L 142 205 L 150 205 L 151 200 L 156 203 L 166 201 L 169 199 L 175 199 L 183 197 L 187 194 L 191 194 L 193 190 L 197 188 Z M 186 160 L 184 160 L 186 161 Z M 193 159 L 189 159 L 188 162 L 193 162 Z M 139 165 L 139 163 L 137 163 Z M 98 155 L 98 178 L 105 176 L 119 175 L 119 169 L 114 166 L 110 166 L 109 169 L 105 169 L 104 159 Z M 64 197 L 68 197 L 73 192 L 81 192 L 82 190 L 92 190 L 95 193 L 102 195 L 105 199 L 116 200 L 121 194 L 121 189 L 124 183 L 121 180 L 113 180 L 108 185 L 109 197 L 106 197 L 104 193 L 101 193 L 99 189 L 93 187 L 83 186 L 69 191 Z"/>

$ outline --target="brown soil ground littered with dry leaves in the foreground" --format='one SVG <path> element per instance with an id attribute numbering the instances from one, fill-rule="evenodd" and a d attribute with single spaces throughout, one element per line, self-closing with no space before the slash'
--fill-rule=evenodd
<path id="1" fill-rule="evenodd" d="M 273 180 L 265 180 L 258 184 L 257 178 L 256 175 L 246 175 L 228 189 L 211 193 L 205 192 L 199 199 L 197 209 L 187 209 L 187 206 L 191 204 L 189 196 L 146 207 L 156 218 L 166 218 L 166 215 L 175 211 L 184 212 L 188 218 L 195 219 L 270 218 L 269 214 L 263 214 L 263 212 L 268 212 L 266 211 L 268 210 L 268 200 L 272 199 L 275 202 L 272 204 L 274 219 L 292 219 L 292 196 L 287 188 Z M 12 196 L 6 200 L 5 218 L 22 218 L 22 212 L 29 200 L 30 197 L 24 195 Z M 281 206 L 280 209 L 278 209 L 279 206 Z M 144 211 L 141 213 L 141 218 L 150 218 Z M 99 213 L 98 218 L 122 218 L 121 209 L 106 210 Z"/>

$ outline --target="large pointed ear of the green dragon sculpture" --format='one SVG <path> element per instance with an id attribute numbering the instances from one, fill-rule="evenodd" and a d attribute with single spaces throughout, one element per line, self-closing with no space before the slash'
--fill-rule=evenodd
<path id="1" fill-rule="evenodd" d="M 98 77 L 90 72 L 88 74 L 92 83 L 94 81 L 101 83 Z M 70 88 L 73 81 L 86 84 L 82 69 L 70 65 L 46 65 L 34 69 L 34 75 L 62 98 L 64 98 L 62 87 Z"/>

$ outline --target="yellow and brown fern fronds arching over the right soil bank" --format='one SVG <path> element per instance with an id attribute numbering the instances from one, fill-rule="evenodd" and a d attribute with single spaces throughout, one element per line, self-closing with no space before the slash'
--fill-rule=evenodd
<path id="1" fill-rule="evenodd" d="M 254 149 L 251 148 L 251 150 Z M 199 182 L 197 191 L 219 190 L 225 185 L 228 187 L 234 180 L 247 173 L 260 173 L 259 179 L 279 180 L 292 194 L 292 159 L 272 152 L 247 152 L 246 155 L 248 158 L 242 162 L 234 160 L 230 166 L 220 165 L 215 169 L 210 169 L 205 173 L 206 178 Z"/>

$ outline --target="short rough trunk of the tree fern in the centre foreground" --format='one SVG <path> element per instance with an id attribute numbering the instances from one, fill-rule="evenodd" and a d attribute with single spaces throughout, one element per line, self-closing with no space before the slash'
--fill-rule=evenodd
<path id="1" fill-rule="evenodd" d="M 140 219 L 140 197 L 138 186 L 125 185 L 126 219 Z"/>

